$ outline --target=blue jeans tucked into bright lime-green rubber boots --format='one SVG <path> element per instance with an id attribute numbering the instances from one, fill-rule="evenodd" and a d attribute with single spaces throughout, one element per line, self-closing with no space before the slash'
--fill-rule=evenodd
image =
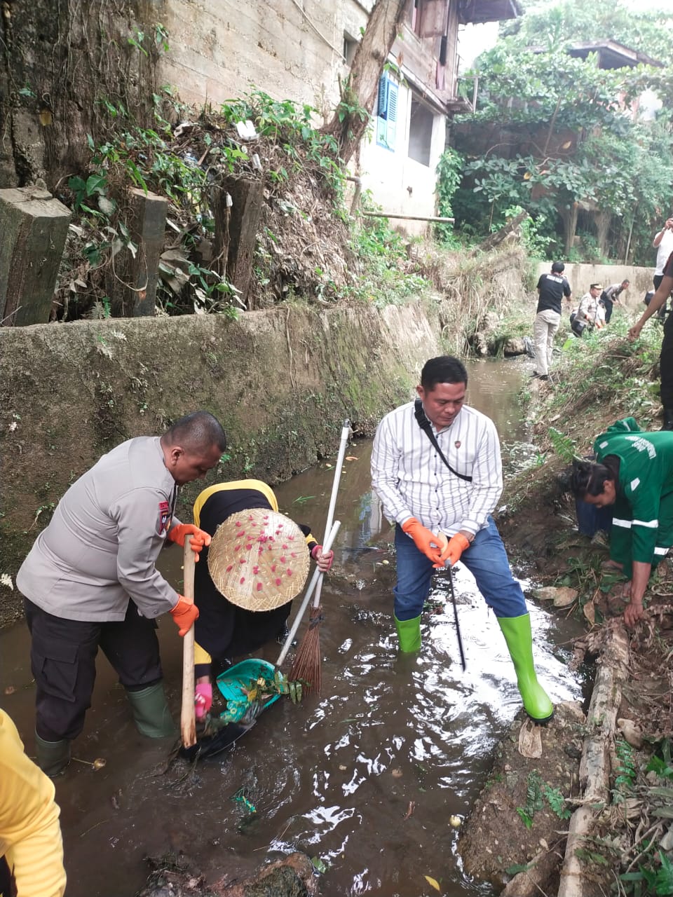
<path id="1" fill-rule="evenodd" d="M 398 554 L 398 582 L 393 589 L 395 616 L 398 620 L 413 620 L 420 616 L 433 579 L 433 562 L 419 552 L 414 540 L 395 527 L 395 549 Z M 511 575 L 510 562 L 504 550 L 494 519 L 480 529 L 473 543 L 460 556 L 476 579 L 476 588 L 493 607 L 496 617 L 516 617 L 528 614 L 526 599 L 519 583 Z"/>

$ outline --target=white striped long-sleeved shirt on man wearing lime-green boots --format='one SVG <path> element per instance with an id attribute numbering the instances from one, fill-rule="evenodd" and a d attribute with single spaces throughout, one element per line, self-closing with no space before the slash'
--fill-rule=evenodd
<path id="1" fill-rule="evenodd" d="M 371 481 L 392 522 L 415 517 L 433 532 L 476 534 L 486 526 L 503 492 L 503 465 L 495 425 L 485 414 L 463 405 L 450 427 L 437 430 L 437 442 L 452 474 L 421 430 L 414 403 L 386 414 L 374 437 Z"/>

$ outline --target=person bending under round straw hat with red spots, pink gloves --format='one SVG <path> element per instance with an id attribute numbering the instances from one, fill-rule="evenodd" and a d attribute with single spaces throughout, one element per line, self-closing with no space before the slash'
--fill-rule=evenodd
<path id="1" fill-rule="evenodd" d="M 310 527 L 279 514 L 273 490 L 261 480 L 209 486 L 194 504 L 194 520 L 213 537 L 219 530 L 201 553 L 205 563 L 195 579 L 195 702 L 203 719 L 216 668 L 283 636 L 309 556 L 327 572 L 334 553 L 323 553 Z"/>

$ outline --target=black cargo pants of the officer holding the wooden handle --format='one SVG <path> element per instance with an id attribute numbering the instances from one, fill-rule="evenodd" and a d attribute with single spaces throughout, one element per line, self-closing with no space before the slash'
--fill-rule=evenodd
<path id="1" fill-rule="evenodd" d="M 101 648 L 131 691 L 162 678 L 156 623 L 138 614 L 132 601 L 117 623 L 65 620 L 24 598 L 31 631 L 31 670 L 36 693 L 35 731 L 45 741 L 75 738 L 92 705 L 96 655 Z"/>

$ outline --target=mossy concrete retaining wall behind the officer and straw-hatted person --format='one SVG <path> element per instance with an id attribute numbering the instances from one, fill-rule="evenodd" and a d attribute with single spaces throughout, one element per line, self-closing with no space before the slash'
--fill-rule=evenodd
<path id="1" fill-rule="evenodd" d="M 371 433 L 440 353 L 436 306 L 282 308 L 0 328 L 0 574 L 15 575 L 69 483 L 122 440 L 212 411 L 231 460 L 207 483 L 275 483 Z M 206 484 L 207 484 L 206 483 Z M 181 512 L 204 482 L 181 492 Z M 0 585 L 0 624 L 18 613 Z"/>

